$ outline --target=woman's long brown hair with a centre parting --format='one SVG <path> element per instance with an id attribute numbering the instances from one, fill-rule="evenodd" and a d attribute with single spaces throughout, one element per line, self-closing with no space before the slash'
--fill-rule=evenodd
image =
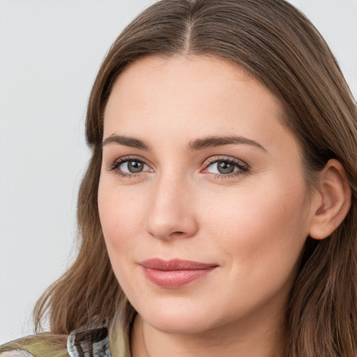
<path id="1" fill-rule="evenodd" d="M 356 357 L 356 102 L 324 39 L 284 0 L 162 0 L 116 39 L 89 98 L 86 139 L 93 155 L 79 190 L 79 254 L 38 301 L 36 327 L 46 312 L 58 334 L 90 319 L 110 321 L 118 311 L 128 328 L 135 314 L 109 263 L 97 191 L 103 112 L 112 86 L 130 63 L 151 54 L 215 56 L 256 77 L 284 106 L 284 124 L 303 149 L 308 185 L 328 159 L 342 162 L 351 209 L 324 241 L 307 238 L 287 306 L 285 356 Z"/>

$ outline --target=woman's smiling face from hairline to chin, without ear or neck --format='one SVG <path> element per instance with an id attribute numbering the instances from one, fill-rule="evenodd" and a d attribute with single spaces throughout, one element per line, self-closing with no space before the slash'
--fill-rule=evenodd
<path id="1" fill-rule="evenodd" d="M 151 56 L 117 79 L 100 221 L 116 278 L 150 326 L 280 318 L 312 214 L 281 119 L 264 86 L 220 59 Z"/>

